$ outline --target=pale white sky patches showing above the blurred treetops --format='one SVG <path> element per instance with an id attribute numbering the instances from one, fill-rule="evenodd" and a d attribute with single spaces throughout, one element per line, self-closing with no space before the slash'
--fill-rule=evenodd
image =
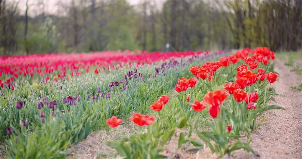
<path id="1" fill-rule="evenodd" d="M 25 13 L 25 9 L 26 9 L 26 0 L 10 0 L 12 2 L 18 2 L 19 3 L 19 9 L 20 9 L 20 14 L 24 15 Z M 39 13 L 41 13 L 41 8 L 37 7 L 37 4 L 39 3 L 39 1 L 44 2 L 45 4 L 45 11 L 47 13 L 50 14 L 55 14 L 58 10 L 58 7 L 56 6 L 56 4 L 58 2 L 62 2 L 62 3 L 70 3 L 71 0 L 28 0 L 28 4 L 29 4 L 29 12 L 28 14 L 31 16 L 35 16 Z M 98 0 L 96 0 L 98 1 Z M 119 1 L 119 0 L 106 0 L 106 1 Z M 141 3 L 143 0 L 127 0 L 130 5 L 137 5 L 139 3 Z M 155 0 L 158 2 L 163 2 L 163 0 Z"/>

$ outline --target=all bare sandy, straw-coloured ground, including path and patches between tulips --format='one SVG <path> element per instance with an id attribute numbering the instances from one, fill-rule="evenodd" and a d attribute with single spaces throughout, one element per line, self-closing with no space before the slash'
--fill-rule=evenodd
<path id="1" fill-rule="evenodd" d="M 302 61 L 298 61 L 300 63 Z M 275 71 L 279 73 L 278 80 L 271 85 L 278 93 L 276 102 L 270 101 L 286 110 L 270 110 L 263 116 L 265 122 L 252 134 L 250 146 L 256 154 L 244 150 L 234 152 L 234 158 L 302 158 L 302 92 L 295 92 L 290 87 L 302 82 L 302 77 L 290 72 L 292 68 L 284 65 L 281 60 L 275 60 Z M 117 131 L 100 131 L 92 133 L 72 150 L 69 158 L 112 158 L 114 151 L 106 146 L 113 136 L 128 136 L 133 126 L 119 127 Z M 133 132 L 133 131 L 132 131 Z M 218 158 L 209 148 L 197 153 L 185 152 L 185 148 L 177 149 L 178 133 L 165 145 L 169 148 L 166 154 L 169 158 Z M 224 156 L 223 158 L 232 158 Z"/>

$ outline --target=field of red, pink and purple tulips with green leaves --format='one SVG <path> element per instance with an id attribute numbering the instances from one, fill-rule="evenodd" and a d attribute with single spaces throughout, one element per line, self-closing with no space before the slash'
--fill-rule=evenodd
<path id="1" fill-rule="evenodd" d="M 106 142 L 115 156 L 166 158 L 176 130 L 187 151 L 254 153 L 259 118 L 283 109 L 267 105 L 274 58 L 265 47 L 1 57 L 0 156 L 65 158 L 93 131 L 127 125 L 136 131 Z"/>

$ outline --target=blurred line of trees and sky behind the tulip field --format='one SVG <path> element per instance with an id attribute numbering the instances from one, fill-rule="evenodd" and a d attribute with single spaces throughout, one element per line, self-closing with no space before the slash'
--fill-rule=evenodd
<path id="1" fill-rule="evenodd" d="M 0 0 L 0 55 L 166 45 L 297 51 L 302 0 Z"/>

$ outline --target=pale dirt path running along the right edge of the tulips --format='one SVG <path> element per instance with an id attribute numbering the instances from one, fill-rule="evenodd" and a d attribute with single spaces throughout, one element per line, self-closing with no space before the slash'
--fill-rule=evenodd
<path id="1" fill-rule="evenodd" d="M 286 110 L 270 110 L 264 115 L 266 121 L 253 134 L 252 148 L 260 158 L 302 158 L 302 92 L 290 87 L 301 83 L 301 76 L 290 72 L 292 67 L 275 59 L 278 80 L 272 84 L 279 94 L 276 103 Z M 242 158 L 239 157 L 239 158 Z"/>

